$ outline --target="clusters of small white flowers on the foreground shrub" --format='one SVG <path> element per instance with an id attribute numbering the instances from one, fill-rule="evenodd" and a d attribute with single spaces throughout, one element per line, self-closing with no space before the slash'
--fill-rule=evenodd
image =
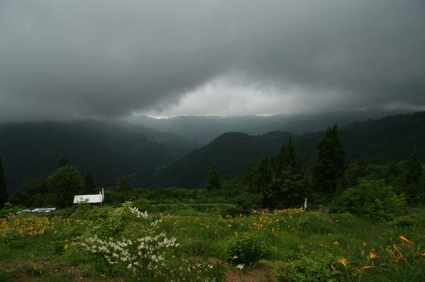
<path id="1" fill-rule="evenodd" d="M 123 206 L 130 209 L 130 215 L 147 219 L 147 213 L 141 213 L 137 208 Z M 128 210 L 127 210 L 128 211 Z M 166 233 L 155 234 L 157 224 L 162 222 L 162 215 L 147 224 L 143 232 L 145 237 L 120 240 L 109 237 L 101 239 L 97 235 L 83 237 L 79 245 L 96 257 L 106 259 L 110 266 L 120 264 L 128 269 L 133 277 L 171 278 L 172 281 L 215 281 L 208 277 L 208 271 L 213 266 L 201 262 L 192 262 L 184 259 L 179 264 L 169 264 L 166 261 L 166 251 L 169 248 L 179 247 L 175 237 L 168 238 Z M 170 281 L 170 280 L 165 280 Z"/>

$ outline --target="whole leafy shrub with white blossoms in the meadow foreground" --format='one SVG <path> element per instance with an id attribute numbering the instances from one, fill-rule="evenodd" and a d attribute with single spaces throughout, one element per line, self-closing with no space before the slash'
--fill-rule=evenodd
<path id="1" fill-rule="evenodd" d="M 176 238 L 168 238 L 166 233 L 156 233 L 162 216 L 148 219 L 147 213 L 128 203 L 119 213 L 118 216 L 116 212 L 111 213 L 111 216 L 120 218 L 119 225 L 123 230 L 124 223 L 129 223 L 131 218 L 142 220 L 140 225 L 143 230 L 125 233 L 126 237 L 123 232 L 117 233 L 117 229 L 113 229 L 113 237 L 106 237 L 104 233 L 101 236 L 81 236 L 79 246 L 92 257 L 98 274 L 120 271 L 130 276 L 132 281 L 223 281 L 222 266 L 176 257 L 179 247 Z M 127 218 L 127 221 L 123 221 L 123 218 Z"/>

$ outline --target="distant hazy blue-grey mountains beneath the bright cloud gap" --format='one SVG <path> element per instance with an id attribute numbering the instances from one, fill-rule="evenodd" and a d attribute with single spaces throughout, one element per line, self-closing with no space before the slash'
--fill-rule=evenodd
<path id="1" fill-rule="evenodd" d="M 128 119 L 132 124 L 142 124 L 164 132 L 177 134 L 186 139 L 208 144 L 226 132 L 244 132 L 250 135 L 266 134 L 271 131 L 289 131 L 293 134 L 307 134 L 324 131 L 329 125 L 338 122 L 340 126 L 351 122 L 363 122 L 367 119 L 380 119 L 392 114 L 412 113 L 412 110 L 400 109 L 384 111 L 370 109 L 364 112 L 329 112 L 325 114 L 278 114 L 271 117 L 261 116 L 179 116 L 166 119 L 154 119 L 147 116 L 133 116 Z"/>

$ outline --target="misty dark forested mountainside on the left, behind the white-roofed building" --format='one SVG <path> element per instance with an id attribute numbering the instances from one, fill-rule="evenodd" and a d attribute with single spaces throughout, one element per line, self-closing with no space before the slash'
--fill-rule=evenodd
<path id="1" fill-rule="evenodd" d="M 198 148 L 193 141 L 124 121 L 84 120 L 0 125 L 0 156 L 8 193 L 57 170 L 62 155 L 99 187 L 120 176 L 171 164 Z"/>

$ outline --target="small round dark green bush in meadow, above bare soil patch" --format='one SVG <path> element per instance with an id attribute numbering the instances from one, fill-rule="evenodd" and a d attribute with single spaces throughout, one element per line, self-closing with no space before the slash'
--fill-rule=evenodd
<path id="1" fill-rule="evenodd" d="M 226 243 L 225 249 L 232 264 L 254 264 L 262 259 L 266 252 L 261 237 L 247 233 L 232 237 Z"/>

